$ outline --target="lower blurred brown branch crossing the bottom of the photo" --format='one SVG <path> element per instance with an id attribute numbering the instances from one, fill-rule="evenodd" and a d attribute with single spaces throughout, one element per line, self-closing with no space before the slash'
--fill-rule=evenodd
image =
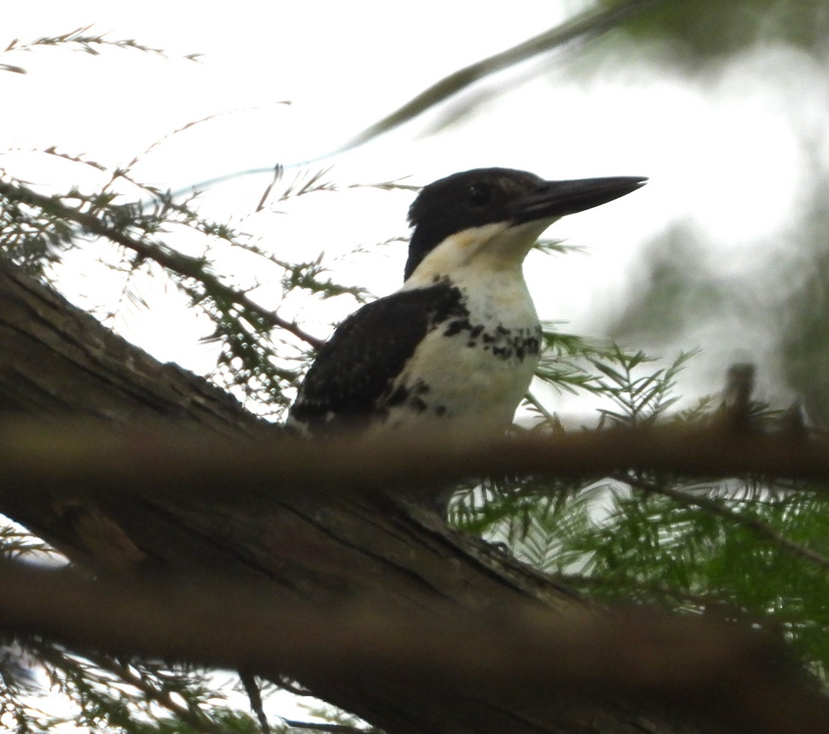
<path id="1" fill-rule="evenodd" d="M 0 586 L 6 630 L 80 649 L 270 676 L 372 669 L 472 688 L 483 698 L 623 694 L 758 734 L 818 734 L 829 720 L 825 698 L 793 685 L 778 645 L 705 618 L 642 611 L 550 618 L 526 603 L 512 606 L 505 626 L 497 617 L 471 622 L 448 606 L 400 611 L 354 600 L 321 609 L 218 578 L 100 584 L 14 563 L 0 564 Z"/>

